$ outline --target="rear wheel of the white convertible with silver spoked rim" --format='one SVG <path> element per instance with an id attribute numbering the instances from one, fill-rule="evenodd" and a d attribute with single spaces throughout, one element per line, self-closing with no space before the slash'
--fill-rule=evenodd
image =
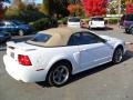
<path id="1" fill-rule="evenodd" d="M 66 62 L 59 62 L 52 67 L 47 77 L 47 82 L 50 86 L 61 87 L 65 84 L 71 76 L 70 64 Z"/>

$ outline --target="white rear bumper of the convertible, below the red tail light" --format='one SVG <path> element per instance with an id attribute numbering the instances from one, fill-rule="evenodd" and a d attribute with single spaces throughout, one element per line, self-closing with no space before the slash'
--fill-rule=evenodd
<path id="1" fill-rule="evenodd" d="M 23 82 L 38 82 L 45 80 L 47 74 L 44 70 L 37 71 L 33 67 L 23 67 L 7 54 L 3 56 L 3 62 L 6 71 L 16 80 L 21 80 Z"/>

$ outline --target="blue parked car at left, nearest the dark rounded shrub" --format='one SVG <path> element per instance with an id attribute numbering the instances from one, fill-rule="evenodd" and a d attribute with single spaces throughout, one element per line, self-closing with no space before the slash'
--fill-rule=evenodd
<path id="1" fill-rule="evenodd" d="M 0 21 L 0 31 L 8 31 L 11 34 L 30 34 L 32 32 L 32 28 L 29 24 L 23 22 L 12 20 L 12 21 Z"/>

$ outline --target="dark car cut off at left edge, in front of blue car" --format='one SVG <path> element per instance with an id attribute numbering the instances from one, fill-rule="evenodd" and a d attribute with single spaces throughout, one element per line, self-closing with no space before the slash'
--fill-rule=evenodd
<path id="1" fill-rule="evenodd" d="M 11 39 L 11 34 L 9 32 L 0 31 L 0 43 L 3 43 Z"/>

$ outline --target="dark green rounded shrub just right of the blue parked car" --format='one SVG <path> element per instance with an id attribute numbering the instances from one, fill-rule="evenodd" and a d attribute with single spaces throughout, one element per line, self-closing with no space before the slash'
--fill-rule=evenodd
<path id="1" fill-rule="evenodd" d="M 44 30 L 53 27 L 58 27 L 58 21 L 53 18 L 42 18 L 34 22 L 30 22 L 30 26 L 35 30 Z"/>

